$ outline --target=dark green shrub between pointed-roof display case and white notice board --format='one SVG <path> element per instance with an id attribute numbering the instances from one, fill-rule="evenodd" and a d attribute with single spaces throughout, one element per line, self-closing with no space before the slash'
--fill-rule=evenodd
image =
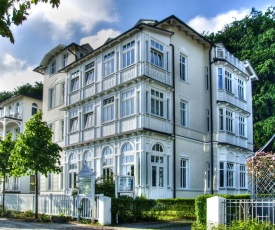
<path id="1" fill-rule="evenodd" d="M 97 178 L 95 181 L 95 194 L 104 194 L 104 196 L 115 197 L 114 178 Z"/>

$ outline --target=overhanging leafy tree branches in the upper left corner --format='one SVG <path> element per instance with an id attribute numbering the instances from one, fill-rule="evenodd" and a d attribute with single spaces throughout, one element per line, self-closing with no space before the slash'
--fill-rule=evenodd
<path id="1" fill-rule="evenodd" d="M 28 11 L 32 5 L 39 2 L 48 3 L 48 0 L 0 0 L 0 34 L 14 43 L 14 37 L 10 30 L 12 24 L 18 26 L 27 20 Z M 58 8 L 60 0 L 49 0 L 52 7 Z"/>

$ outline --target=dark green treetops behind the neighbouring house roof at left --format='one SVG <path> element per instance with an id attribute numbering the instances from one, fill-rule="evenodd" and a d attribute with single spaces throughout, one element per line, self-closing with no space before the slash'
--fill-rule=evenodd
<path id="1" fill-rule="evenodd" d="M 27 83 L 25 85 L 17 86 L 15 89 L 13 89 L 13 91 L 0 92 L 0 103 L 17 95 L 42 98 L 43 83 L 36 81 L 34 85 Z"/>

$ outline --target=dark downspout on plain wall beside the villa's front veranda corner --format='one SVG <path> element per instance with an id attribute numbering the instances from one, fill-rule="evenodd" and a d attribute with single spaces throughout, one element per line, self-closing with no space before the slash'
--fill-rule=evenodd
<path id="1" fill-rule="evenodd" d="M 175 47 L 173 44 L 170 44 L 172 47 L 172 78 L 173 78 L 173 198 L 176 198 L 176 109 L 175 109 Z"/>

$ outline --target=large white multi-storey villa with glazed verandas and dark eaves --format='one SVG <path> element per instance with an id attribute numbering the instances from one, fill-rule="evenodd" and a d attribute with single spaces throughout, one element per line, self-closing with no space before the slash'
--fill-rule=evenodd
<path id="1" fill-rule="evenodd" d="M 245 159 L 253 150 L 251 81 L 257 75 L 248 61 L 175 16 L 140 20 L 51 80 L 51 63 L 63 52 L 47 54 L 42 73 L 44 116 L 64 119 L 66 194 L 83 162 L 96 177 L 135 176 L 136 195 L 152 199 L 249 191 Z M 49 110 L 52 95 L 63 98 L 50 87 L 61 79 L 65 104 Z"/>

